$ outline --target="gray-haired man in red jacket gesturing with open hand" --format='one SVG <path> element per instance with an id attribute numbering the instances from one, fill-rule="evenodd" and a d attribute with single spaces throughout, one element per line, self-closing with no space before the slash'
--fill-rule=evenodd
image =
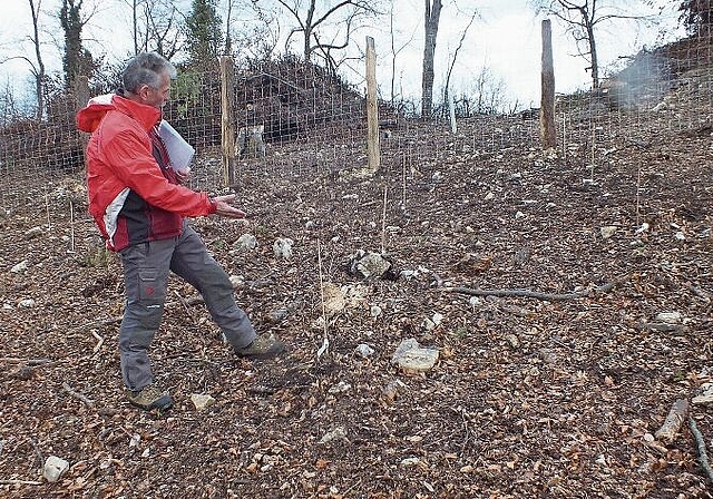
<path id="1" fill-rule="evenodd" d="M 209 198 L 182 185 L 158 135 L 162 107 L 176 69 L 157 53 L 134 57 L 123 74 L 124 88 L 92 99 L 77 114 L 87 146 L 89 213 L 124 266 L 126 310 L 119 333 L 127 398 L 145 409 L 167 409 L 168 392 L 154 384 L 148 348 L 158 330 L 168 273 L 173 271 L 204 297 L 213 320 L 241 356 L 266 359 L 284 345 L 257 336 L 235 304 L 227 274 L 184 217 L 216 214 L 244 218 L 231 205 L 235 196 Z"/>

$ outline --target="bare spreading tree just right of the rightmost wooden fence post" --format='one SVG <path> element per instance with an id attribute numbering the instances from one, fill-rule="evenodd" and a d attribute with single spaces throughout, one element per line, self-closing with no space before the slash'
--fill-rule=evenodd
<path id="1" fill-rule="evenodd" d="M 615 20 L 649 20 L 649 16 L 631 14 L 623 6 L 651 2 L 632 0 L 530 0 L 537 12 L 545 12 L 559 19 L 575 39 L 578 55 L 584 58 L 592 74 L 592 87 L 599 88 L 599 56 L 597 52 L 596 28 Z"/>

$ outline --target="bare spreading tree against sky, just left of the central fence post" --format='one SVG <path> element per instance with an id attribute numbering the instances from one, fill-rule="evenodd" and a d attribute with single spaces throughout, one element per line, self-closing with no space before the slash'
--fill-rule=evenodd
<path id="1" fill-rule="evenodd" d="M 320 11 L 316 0 L 307 0 L 306 2 L 277 0 L 277 3 L 290 12 L 297 22 L 297 27 L 292 28 L 287 36 L 285 47 L 291 42 L 292 36 L 302 33 L 304 60 L 309 61 L 314 53 L 320 53 L 328 66 L 333 65 L 331 51 L 345 49 L 350 43 L 351 35 L 359 28 L 360 22 L 379 14 L 378 2 L 370 0 L 342 0 L 328 7 L 324 11 Z M 326 41 L 329 38 L 328 27 L 336 33 L 330 41 Z"/>

